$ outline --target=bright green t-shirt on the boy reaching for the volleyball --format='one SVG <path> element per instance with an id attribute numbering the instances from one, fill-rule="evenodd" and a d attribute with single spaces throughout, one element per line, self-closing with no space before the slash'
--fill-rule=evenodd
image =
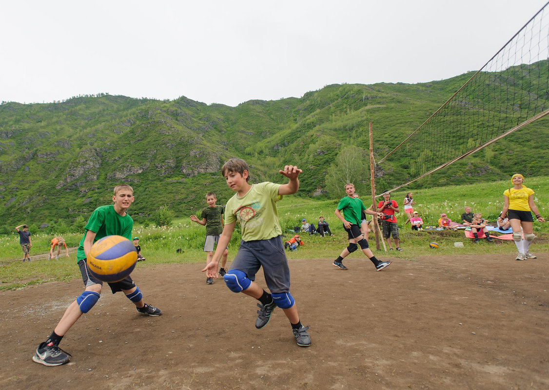
<path id="1" fill-rule="evenodd" d="M 91 217 L 89 217 L 85 229 L 86 233 L 88 233 L 88 230 L 96 233 L 96 238 L 93 239 L 93 242 L 111 235 L 119 235 L 131 240 L 133 219 L 128 213 L 124 217 L 121 217 L 119 213 L 114 211 L 114 205 L 99 206 L 92 213 Z M 86 254 L 84 253 L 86 233 L 84 233 L 82 240 L 80 240 L 80 246 L 76 251 L 77 261 L 86 258 Z"/>

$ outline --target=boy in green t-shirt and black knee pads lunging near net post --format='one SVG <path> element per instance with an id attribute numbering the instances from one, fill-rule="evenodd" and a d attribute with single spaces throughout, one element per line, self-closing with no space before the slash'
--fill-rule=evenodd
<path id="1" fill-rule="evenodd" d="M 380 271 L 391 264 L 391 261 L 381 262 L 372 253 L 368 247 L 368 241 L 362 235 L 360 230 L 361 212 L 371 214 L 373 216 L 383 217 L 382 212 L 375 212 L 366 209 L 366 206 L 358 198 L 355 198 L 355 185 L 352 183 L 345 184 L 345 196 L 339 201 L 338 207 L 335 209 L 335 216 L 343 222 L 343 227 L 349 237 L 349 246 L 346 247 L 341 255 L 335 259 L 333 265 L 339 269 L 346 270 L 347 267 L 343 265 L 343 259 L 349 256 L 350 253 L 358 249 L 358 245 L 362 249 L 362 252 L 374 263 L 376 270 Z M 343 215 L 341 214 L 343 212 Z"/>

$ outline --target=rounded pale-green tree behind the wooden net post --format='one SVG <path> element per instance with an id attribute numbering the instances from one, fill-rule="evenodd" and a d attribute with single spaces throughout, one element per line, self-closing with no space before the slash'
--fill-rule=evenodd
<path id="1" fill-rule="evenodd" d="M 342 197 L 344 186 L 353 183 L 361 197 L 371 193 L 368 152 L 357 146 L 343 146 L 335 162 L 328 168 L 326 191 L 334 197 Z M 365 201 L 365 204 L 369 202 Z"/>

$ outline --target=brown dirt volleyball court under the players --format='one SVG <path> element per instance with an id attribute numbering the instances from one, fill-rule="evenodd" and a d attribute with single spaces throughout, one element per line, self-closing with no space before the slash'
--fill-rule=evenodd
<path id="1" fill-rule="evenodd" d="M 0 388 L 548 389 L 549 254 L 538 257 L 426 256 L 383 272 L 363 257 L 348 271 L 292 260 L 309 348 L 281 309 L 256 330 L 256 301 L 206 285 L 200 264 L 139 263 L 132 276 L 163 315 L 138 314 L 107 287 L 57 367 L 31 358 L 82 282 L 1 292 Z"/>

